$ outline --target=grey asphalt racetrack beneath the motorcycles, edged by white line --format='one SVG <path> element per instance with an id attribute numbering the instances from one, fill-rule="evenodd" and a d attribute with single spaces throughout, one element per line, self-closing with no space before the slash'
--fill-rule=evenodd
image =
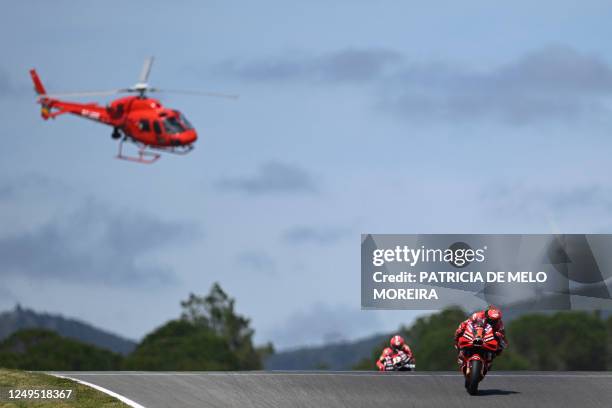
<path id="1" fill-rule="evenodd" d="M 62 372 L 144 408 L 612 407 L 612 372 Z M 129 401 L 128 401 L 129 402 Z"/>

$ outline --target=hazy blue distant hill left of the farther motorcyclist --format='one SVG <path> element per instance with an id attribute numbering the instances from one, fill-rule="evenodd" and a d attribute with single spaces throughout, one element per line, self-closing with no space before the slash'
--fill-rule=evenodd
<path id="1" fill-rule="evenodd" d="M 364 358 L 372 357 L 372 350 L 391 338 L 391 334 L 375 334 L 355 341 L 302 347 L 270 355 L 264 361 L 266 370 L 350 370 Z M 372 361 L 372 365 L 375 362 Z"/>

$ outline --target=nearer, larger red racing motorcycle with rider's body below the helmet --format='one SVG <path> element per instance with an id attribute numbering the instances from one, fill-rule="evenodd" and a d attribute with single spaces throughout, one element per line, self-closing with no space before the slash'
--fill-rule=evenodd
<path id="1" fill-rule="evenodd" d="M 468 323 L 457 342 L 465 388 L 470 395 L 478 394 L 478 384 L 487 375 L 499 350 L 493 327 L 484 320 Z"/>

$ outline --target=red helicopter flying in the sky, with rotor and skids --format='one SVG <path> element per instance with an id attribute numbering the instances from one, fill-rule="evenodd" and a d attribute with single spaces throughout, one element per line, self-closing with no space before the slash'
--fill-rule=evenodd
<path id="1" fill-rule="evenodd" d="M 190 95 L 204 95 L 236 99 L 237 95 L 215 92 L 163 90 L 148 84 L 153 57 L 145 60 L 138 82 L 130 88 L 109 91 L 48 94 L 36 70 L 30 70 L 34 89 L 39 95 L 41 116 L 47 120 L 64 113 L 82 116 L 113 127 L 111 137 L 120 139 L 118 159 L 150 164 L 161 157 L 160 152 L 187 154 L 193 150 L 198 135 L 187 118 L 178 110 L 169 109 L 147 93 L 173 92 Z M 96 103 L 65 102 L 58 98 L 107 96 L 120 93 L 134 93 L 116 99 L 107 106 Z M 132 142 L 138 146 L 138 156 L 123 154 L 123 143 Z"/>

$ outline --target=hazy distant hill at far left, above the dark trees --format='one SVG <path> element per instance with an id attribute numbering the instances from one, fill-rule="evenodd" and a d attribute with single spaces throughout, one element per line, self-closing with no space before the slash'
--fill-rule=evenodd
<path id="1" fill-rule="evenodd" d="M 17 305 L 12 311 L 0 313 L 0 341 L 21 329 L 47 329 L 63 337 L 126 355 L 136 347 L 136 342 L 98 329 L 90 324 L 60 315 L 38 313 Z"/>

